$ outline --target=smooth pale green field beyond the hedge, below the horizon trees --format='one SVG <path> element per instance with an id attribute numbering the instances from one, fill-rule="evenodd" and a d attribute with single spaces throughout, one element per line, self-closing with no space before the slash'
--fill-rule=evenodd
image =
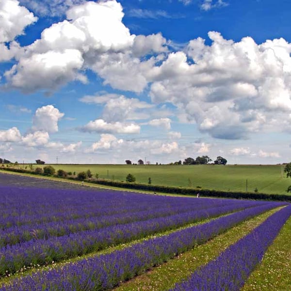
<path id="1" fill-rule="evenodd" d="M 33 165 L 34 167 L 36 165 Z M 204 189 L 223 191 L 287 194 L 291 178 L 286 178 L 282 165 L 72 165 L 52 164 L 58 170 L 67 172 L 91 170 L 99 178 L 126 180 L 130 173 L 137 183 L 147 183 L 151 178 L 152 185 L 177 187 L 201 186 Z M 246 181 L 247 180 L 247 181 Z"/>

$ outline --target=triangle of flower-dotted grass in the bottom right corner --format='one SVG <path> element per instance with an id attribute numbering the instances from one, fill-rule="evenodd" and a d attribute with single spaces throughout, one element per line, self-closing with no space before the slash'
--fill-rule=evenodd
<path id="1" fill-rule="evenodd" d="M 262 262 L 242 291 L 287 291 L 291 290 L 291 218 L 282 227 L 279 235 L 265 253 Z"/>

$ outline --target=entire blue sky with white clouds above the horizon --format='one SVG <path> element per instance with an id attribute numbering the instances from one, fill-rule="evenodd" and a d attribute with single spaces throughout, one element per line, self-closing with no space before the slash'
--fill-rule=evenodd
<path id="1" fill-rule="evenodd" d="M 0 157 L 290 162 L 288 0 L 0 0 Z"/>

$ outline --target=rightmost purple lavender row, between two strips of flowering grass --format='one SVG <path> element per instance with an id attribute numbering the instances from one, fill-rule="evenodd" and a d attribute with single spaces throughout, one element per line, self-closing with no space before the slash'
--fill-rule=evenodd
<path id="1" fill-rule="evenodd" d="M 171 291 L 240 290 L 290 216 L 291 206 L 276 212 Z"/>

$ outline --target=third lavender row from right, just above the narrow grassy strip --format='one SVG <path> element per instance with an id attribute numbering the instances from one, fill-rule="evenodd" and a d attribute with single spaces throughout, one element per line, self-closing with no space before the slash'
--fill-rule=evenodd
<path id="1" fill-rule="evenodd" d="M 25 265 L 44 265 L 52 261 L 74 258 L 104 249 L 113 244 L 130 242 L 208 217 L 219 216 L 242 208 L 258 207 L 260 204 L 266 209 L 281 205 L 274 202 L 242 201 L 235 205 L 210 207 L 127 224 L 79 231 L 60 237 L 33 239 L 27 242 L 6 245 L 0 249 L 0 275 L 5 275 L 7 272 L 9 274 L 15 273 Z"/>

